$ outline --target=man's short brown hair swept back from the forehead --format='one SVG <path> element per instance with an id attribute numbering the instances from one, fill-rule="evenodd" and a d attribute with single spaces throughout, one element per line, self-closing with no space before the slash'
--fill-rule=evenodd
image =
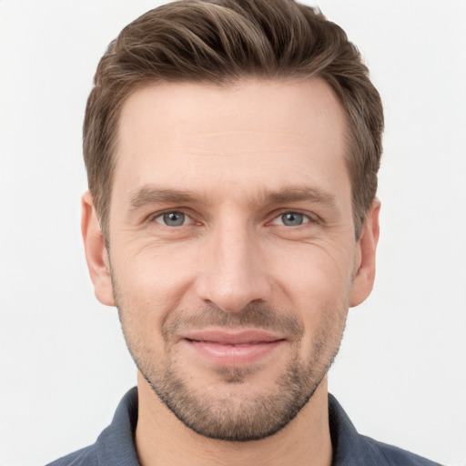
<path id="1" fill-rule="evenodd" d="M 181 0 L 127 25 L 100 60 L 87 100 L 83 147 L 89 190 L 108 238 L 118 119 L 127 97 L 157 82 L 225 86 L 244 77 L 323 78 L 346 112 L 356 238 L 375 198 L 383 110 L 345 32 L 294 0 Z"/>

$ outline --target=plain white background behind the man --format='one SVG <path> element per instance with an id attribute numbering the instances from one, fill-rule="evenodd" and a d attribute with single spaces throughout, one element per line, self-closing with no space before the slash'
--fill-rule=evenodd
<path id="1" fill-rule="evenodd" d="M 86 446 L 135 384 L 79 233 L 81 125 L 108 42 L 158 5 L 0 0 L 1 466 Z M 385 103 L 379 269 L 329 386 L 361 433 L 466 464 L 466 1 L 322 0 Z"/>

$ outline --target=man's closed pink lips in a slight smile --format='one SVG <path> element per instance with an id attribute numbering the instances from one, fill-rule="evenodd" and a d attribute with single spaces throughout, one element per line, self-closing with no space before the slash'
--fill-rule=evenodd
<path id="1" fill-rule="evenodd" d="M 228 367 L 264 360 L 286 341 L 279 334 L 260 329 L 201 330 L 189 332 L 181 340 L 198 358 Z"/>

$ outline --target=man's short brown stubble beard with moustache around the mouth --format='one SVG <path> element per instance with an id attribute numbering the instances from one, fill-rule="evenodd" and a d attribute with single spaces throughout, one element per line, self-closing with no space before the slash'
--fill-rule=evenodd
<path id="1" fill-rule="evenodd" d="M 117 290 L 117 288 L 114 288 Z M 249 305 L 238 313 L 216 307 L 198 309 L 196 313 L 177 312 L 162 323 L 165 342 L 164 360 L 141 338 L 131 309 L 124 309 L 116 292 L 117 308 L 127 347 L 157 397 L 189 429 L 205 437 L 222 441 L 255 441 L 283 429 L 299 413 L 319 387 L 335 359 L 346 322 L 346 312 L 325 312 L 328 316 L 313 336 L 309 359 L 300 360 L 299 347 L 304 329 L 299 319 L 270 309 L 266 305 Z M 286 329 L 296 348 L 294 356 L 268 392 L 248 397 L 238 385 L 248 382 L 254 367 L 218 367 L 215 372 L 225 390 L 209 392 L 190 387 L 187 377 L 178 370 L 177 355 L 171 345 L 181 326 L 203 328 Z"/>

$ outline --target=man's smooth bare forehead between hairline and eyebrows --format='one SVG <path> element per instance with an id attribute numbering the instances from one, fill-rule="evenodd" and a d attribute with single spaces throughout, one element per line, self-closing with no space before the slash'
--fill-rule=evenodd
<path id="1" fill-rule="evenodd" d="M 122 108 L 112 198 L 157 184 L 349 187 L 345 147 L 344 112 L 320 79 L 147 86 Z"/>

